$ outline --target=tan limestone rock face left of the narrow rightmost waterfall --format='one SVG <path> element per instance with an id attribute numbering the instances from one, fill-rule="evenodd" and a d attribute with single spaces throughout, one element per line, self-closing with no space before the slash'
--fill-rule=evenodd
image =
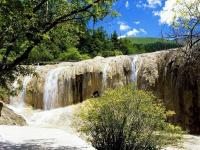
<path id="1" fill-rule="evenodd" d="M 131 57 L 96 57 L 37 68 L 27 85 L 25 102 L 34 108 L 63 107 L 100 96 L 107 88 L 130 83 Z"/>

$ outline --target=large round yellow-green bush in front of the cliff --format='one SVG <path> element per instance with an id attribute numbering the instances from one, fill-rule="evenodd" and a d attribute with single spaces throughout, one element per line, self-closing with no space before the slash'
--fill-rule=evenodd
<path id="1" fill-rule="evenodd" d="M 75 126 L 98 150 L 156 150 L 182 137 L 165 112 L 151 93 L 128 86 L 84 102 Z"/>

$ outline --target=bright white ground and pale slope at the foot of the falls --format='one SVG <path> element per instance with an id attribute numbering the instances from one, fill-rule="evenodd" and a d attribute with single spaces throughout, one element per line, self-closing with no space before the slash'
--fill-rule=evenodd
<path id="1" fill-rule="evenodd" d="M 26 119 L 28 126 L 0 126 L 0 149 L 94 150 L 71 126 L 78 106 L 45 111 L 24 107 L 18 114 Z"/>

